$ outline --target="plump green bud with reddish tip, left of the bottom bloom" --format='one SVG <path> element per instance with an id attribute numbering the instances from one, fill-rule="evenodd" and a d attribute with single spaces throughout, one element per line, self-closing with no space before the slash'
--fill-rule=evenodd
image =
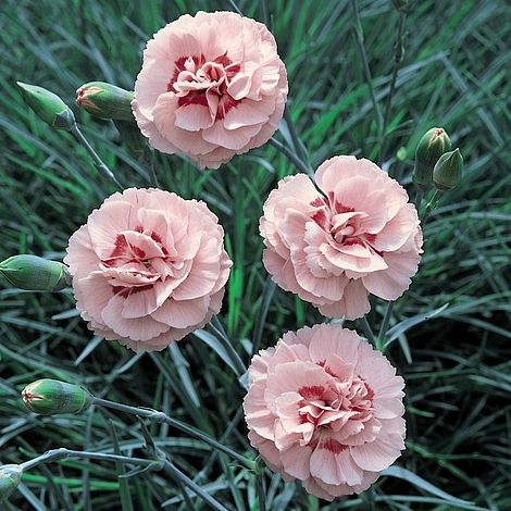
<path id="1" fill-rule="evenodd" d="M 92 395 L 79 385 L 59 379 L 38 379 L 22 391 L 26 408 L 39 415 L 78 413 L 89 408 Z"/>

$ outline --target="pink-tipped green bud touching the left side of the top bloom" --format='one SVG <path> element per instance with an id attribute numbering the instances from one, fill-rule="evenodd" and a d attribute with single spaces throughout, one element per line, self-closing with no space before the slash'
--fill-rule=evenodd
<path id="1" fill-rule="evenodd" d="M 132 112 L 133 92 L 104 82 L 90 82 L 77 91 L 76 102 L 87 112 L 113 121 L 135 121 Z"/>

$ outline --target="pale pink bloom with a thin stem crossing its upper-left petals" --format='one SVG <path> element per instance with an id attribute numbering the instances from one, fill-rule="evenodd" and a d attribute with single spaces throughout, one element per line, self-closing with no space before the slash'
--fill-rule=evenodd
<path id="1" fill-rule="evenodd" d="M 328 317 L 361 317 L 369 294 L 396 300 L 422 253 L 415 207 L 369 160 L 335 157 L 315 173 L 285 177 L 264 204 L 263 262 L 285 290 Z"/>

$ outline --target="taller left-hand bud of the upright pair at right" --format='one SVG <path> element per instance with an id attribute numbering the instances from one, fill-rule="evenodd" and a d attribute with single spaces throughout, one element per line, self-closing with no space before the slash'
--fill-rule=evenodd
<path id="1" fill-rule="evenodd" d="M 413 178 L 417 185 L 427 187 L 432 184 L 435 163 L 450 148 L 450 138 L 443 128 L 432 128 L 425 133 L 415 151 Z"/>

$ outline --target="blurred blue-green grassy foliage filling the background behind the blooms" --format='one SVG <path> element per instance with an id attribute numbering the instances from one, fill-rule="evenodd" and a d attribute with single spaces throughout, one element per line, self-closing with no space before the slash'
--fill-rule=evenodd
<path id="1" fill-rule="evenodd" d="M 121 144 L 114 125 L 74 105 L 75 90 L 91 80 L 132 90 L 145 41 L 159 27 L 183 13 L 233 4 L 1 2 L 0 260 L 15 253 L 62 258 L 70 235 L 115 190 L 71 134 L 50 128 L 25 105 L 15 83 L 38 84 L 59 95 L 120 180 L 148 186 L 148 170 Z M 237 5 L 266 21 L 275 34 L 289 72 L 288 119 L 312 167 L 342 153 L 377 160 L 382 136 L 353 37 L 351 2 L 246 0 Z M 374 96 L 383 110 L 399 13 L 387 0 L 360 0 L 358 7 Z M 462 184 L 443 194 L 429 215 L 420 273 L 390 317 L 398 342 L 387 352 L 407 381 L 408 449 L 397 463 L 404 471 L 382 477 L 366 495 L 333 504 L 308 500 L 299 486 L 284 485 L 267 473 L 269 510 L 511 508 L 507 9 L 502 0 L 424 0 L 414 2 L 404 22 L 383 166 L 412 192 L 415 148 L 433 126 L 446 128 L 465 160 Z M 288 123 L 277 138 L 294 146 Z M 252 344 L 266 347 L 287 329 L 321 321 L 309 304 L 274 289 L 261 263 L 262 203 L 277 179 L 295 169 L 266 145 L 220 171 L 200 172 L 177 155 L 162 154 L 155 154 L 155 170 L 162 187 L 207 201 L 226 230 L 235 264 L 219 322 L 171 350 L 134 354 L 92 337 L 74 310 L 71 291 L 24 292 L 5 283 L 0 289 L 2 463 L 20 463 L 59 446 L 113 453 L 119 444 L 123 453 L 142 452 L 142 431 L 133 416 L 105 410 L 76 416 L 29 414 L 20 390 L 41 377 L 79 382 L 99 397 L 163 410 L 252 454 L 240 411 L 239 361 L 225 351 L 222 336 L 235 340 L 247 364 Z M 373 303 L 372 325 L 382 323 L 385 310 L 385 303 Z M 423 321 L 432 311 L 435 315 Z M 410 322 L 398 326 L 410 317 L 417 319 L 413 328 L 408 329 Z M 254 509 L 253 473 L 167 425 L 151 424 L 150 433 L 159 449 L 171 452 L 173 466 L 203 491 L 229 509 Z M 101 462 L 41 465 L 23 476 L 20 491 L 2 509 L 28 509 L 28 501 L 42 510 L 112 510 L 121 509 L 127 496 L 134 509 L 162 503 L 190 509 L 190 502 L 204 508 L 163 473 L 144 472 L 122 483 L 119 473 Z"/>

